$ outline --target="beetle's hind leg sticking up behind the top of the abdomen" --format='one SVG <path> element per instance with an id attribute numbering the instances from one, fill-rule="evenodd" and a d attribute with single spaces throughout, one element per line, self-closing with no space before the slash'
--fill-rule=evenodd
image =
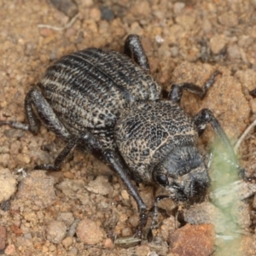
<path id="1" fill-rule="evenodd" d="M 129 35 L 125 39 L 125 55 L 128 55 L 138 65 L 150 73 L 148 57 L 144 52 L 143 45 L 138 35 Z"/>

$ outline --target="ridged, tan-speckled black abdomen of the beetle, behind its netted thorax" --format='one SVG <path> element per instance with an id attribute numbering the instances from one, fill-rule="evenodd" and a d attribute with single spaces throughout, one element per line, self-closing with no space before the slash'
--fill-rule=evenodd
<path id="1" fill-rule="evenodd" d="M 94 48 L 55 62 L 44 74 L 41 87 L 63 125 L 74 135 L 88 128 L 102 134 L 111 130 L 122 109 L 133 102 L 158 100 L 161 90 L 126 55 Z"/>

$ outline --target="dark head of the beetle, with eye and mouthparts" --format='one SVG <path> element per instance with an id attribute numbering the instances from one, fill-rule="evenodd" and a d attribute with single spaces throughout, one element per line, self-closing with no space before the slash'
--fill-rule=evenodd
<path id="1" fill-rule="evenodd" d="M 203 201 L 210 185 L 207 166 L 193 145 L 174 148 L 154 167 L 153 177 L 172 200 L 189 204 Z"/>

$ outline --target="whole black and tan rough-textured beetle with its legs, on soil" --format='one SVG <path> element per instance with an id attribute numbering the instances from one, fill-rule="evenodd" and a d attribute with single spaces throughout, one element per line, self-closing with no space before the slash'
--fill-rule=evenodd
<path id="1" fill-rule="evenodd" d="M 150 75 L 139 37 L 130 35 L 124 55 L 90 48 L 56 61 L 26 95 L 28 124 L 1 121 L 0 125 L 37 134 L 41 120 L 67 142 L 53 165 L 36 169 L 59 171 L 74 148 L 108 163 L 137 202 L 140 218 L 136 236 L 142 237 L 147 207 L 131 177 L 166 189 L 166 195 L 158 196 L 155 203 L 166 197 L 189 204 L 202 201 L 210 178 L 196 145 L 207 123 L 236 159 L 210 110 L 202 109 L 190 118 L 179 107 L 183 90 L 202 99 L 218 73 L 213 73 L 203 88 L 172 84 L 168 98 L 163 99 L 160 85 Z"/>

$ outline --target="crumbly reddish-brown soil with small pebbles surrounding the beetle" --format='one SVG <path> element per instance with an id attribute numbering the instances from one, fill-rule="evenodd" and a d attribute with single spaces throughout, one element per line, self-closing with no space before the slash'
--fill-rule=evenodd
<path id="1" fill-rule="evenodd" d="M 256 87 L 255 9 L 255 0 L 76 0 L 64 9 L 49 0 L 0 0 L 0 120 L 26 121 L 26 92 L 62 55 L 88 47 L 122 51 L 125 37 L 136 33 L 152 75 L 165 90 L 182 82 L 202 86 L 214 71 L 222 73 L 202 101 L 185 92 L 182 107 L 192 116 L 201 108 L 211 109 L 235 145 L 256 118 L 256 100 L 249 94 Z M 213 137 L 209 125 L 201 147 L 207 150 Z M 170 214 L 160 212 L 153 242 L 114 246 L 115 237 L 134 234 L 138 214 L 135 201 L 108 166 L 74 152 L 61 172 L 31 172 L 37 164 L 52 163 L 64 145 L 44 126 L 38 136 L 0 126 L 0 254 L 218 254 L 211 226 L 197 223 L 198 230 L 174 232 L 171 201 L 163 203 Z M 253 176 L 253 130 L 238 152 L 241 166 Z M 141 184 L 139 191 L 148 209 L 152 207 L 153 189 Z M 249 217 L 236 253 L 256 255 L 253 192 L 243 203 Z M 186 245 L 188 234 L 199 236 L 194 245 Z"/>

